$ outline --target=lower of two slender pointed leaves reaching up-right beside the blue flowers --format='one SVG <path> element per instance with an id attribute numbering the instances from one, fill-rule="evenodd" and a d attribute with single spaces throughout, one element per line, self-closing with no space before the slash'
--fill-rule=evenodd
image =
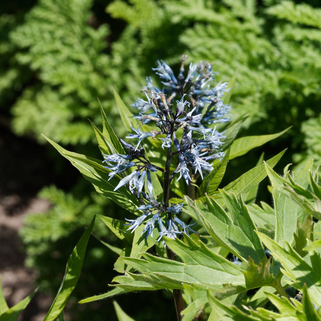
<path id="1" fill-rule="evenodd" d="M 284 149 L 282 152 L 279 152 L 277 155 L 270 158 L 265 163 L 268 164 L 271 168 L 273 168 L 281 159 L 285 151 L 286 149 Z M 245 194 L 256 184 L 260 183 L 266 177 L 266 175 L 267 173 L 265 170 L 265 166 L 264 164 L 261 164 L 250 169 L 249 171 L 241 175 L 239 178 L 235 179 L 233 182 L 225 186 L 224 190 L 233 192 L 236 195 L 239 193 Z"/>

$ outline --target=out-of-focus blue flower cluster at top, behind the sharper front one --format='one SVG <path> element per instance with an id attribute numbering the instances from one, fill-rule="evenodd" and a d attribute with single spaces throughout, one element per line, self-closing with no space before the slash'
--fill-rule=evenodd
<path id="1" fill-rule="evenodd" d="M 207 62 L 191 63 L 187 76 L 184 77 L 185 59 L 186 57 L 183 56 L 178 77 L 175 77 L 173 70 L 164 61 L 158 61 L 157 68 L 153 68 L 153 70 L 163 80 L 161 81 L 163 88 L 160 90 L 158 87 L 155 87 L 152 83 L 152 78 L 147 77 L 147 86 L 143 87 L 147 101 L 138 99 L 132 107 L 137 108 L 142 114 L 152 107 L 151 116 L 157 117 L 156 104 L 150 106 L 148 103 L 150 100 L 149 95 L 158 100 L 160 108 L 165 108 L 160 100 L 160 95 L 157 94 L 158 92 L 161 91 L 169 97 L 167 99 L 168 103 L 176 96 L 183 97 L 186 94 L 192 108 L 195 108 L 193 112 L 201 114 L 199 122 L 195 124 L 197 127 L 207 127 L 214 123 L 229 122 L 231 106 L 224 104 L 222 100 L 224 92 L 230 90 L 230 88 L 227 88 L 228 82 L 213 85 L 215 74 L 217 73 L 212 71 L 212 64 Z M 181 107 L 184 109 L 184 106 Z"/>

